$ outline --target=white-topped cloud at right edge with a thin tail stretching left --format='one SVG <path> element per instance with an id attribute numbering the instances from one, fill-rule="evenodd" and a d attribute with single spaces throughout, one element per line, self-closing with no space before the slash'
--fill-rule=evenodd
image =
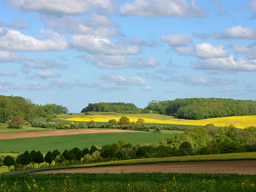
<path id="1" fill-rule="evenodd" d="M 236 26 L 236 27 L 230 27 L 226 28 L 225 30 L 222 31 L 221 34 L 217 34 L 216 32 L 213 32 L 212 34 L 197 34 L 193 33 L 194 37 L 199 37 L 201 39 L 206 39 L 206 38 L 215 38 L 218 40 L 223 40 L 223 39 L 248 39 L 248 40 L 254 40 L 256 38 L 256 33 L 253 29 L 248 28 L 248 27 L 241 27 L 241 26 Z"/>

